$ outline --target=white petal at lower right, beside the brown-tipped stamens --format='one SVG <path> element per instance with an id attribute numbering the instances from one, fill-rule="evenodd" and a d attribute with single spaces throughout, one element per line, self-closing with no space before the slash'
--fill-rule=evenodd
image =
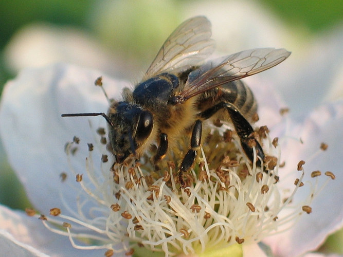
<path id="1" fill-rule="evenodd" d="M 296 256 L 309 250 L 316 249 L 326 237 L 338 230 L 343 225 L 343 176 L 341 176 L 343 148 L 342 133 L 343 127 L 343 101 L 333 104 L 323 105 L 303 122 L 303 125 L 291 133 L 299 136 L 303 144 L 291 141 L 287 148 L 283 148 L 286 166 L 280 171 L 285 174 L 296 170 L 299 160 L 305 160 L 303 168 L 306 172 L 304 183 L 309 185 L 309 181 L 314 183 L 315 179 L 310 178 L 312 171 L 320 170 L 322 176 L 319 177 L 319 187 L 327 180 L 324 172 L 331 171 L 336 175 L 335 180 L 330 180 L 328 185 L 314 199 L 311 207 L 311 214 L 303 214 L 291 230 L 285 233 L 267 238 L 265 241 L 272 247 L 273 252 L 280 256 Z M 326 151 L 319 150 L 321 142 L 329 145 Z M 311 160 L 316 152 L 319 152 Z M 288 177 L 280 181 L 280 185 L 292 183 L 294 177 Z M 298 190 L 294 203 L 302 200 L 309 191 L 306 187 Z"/>

